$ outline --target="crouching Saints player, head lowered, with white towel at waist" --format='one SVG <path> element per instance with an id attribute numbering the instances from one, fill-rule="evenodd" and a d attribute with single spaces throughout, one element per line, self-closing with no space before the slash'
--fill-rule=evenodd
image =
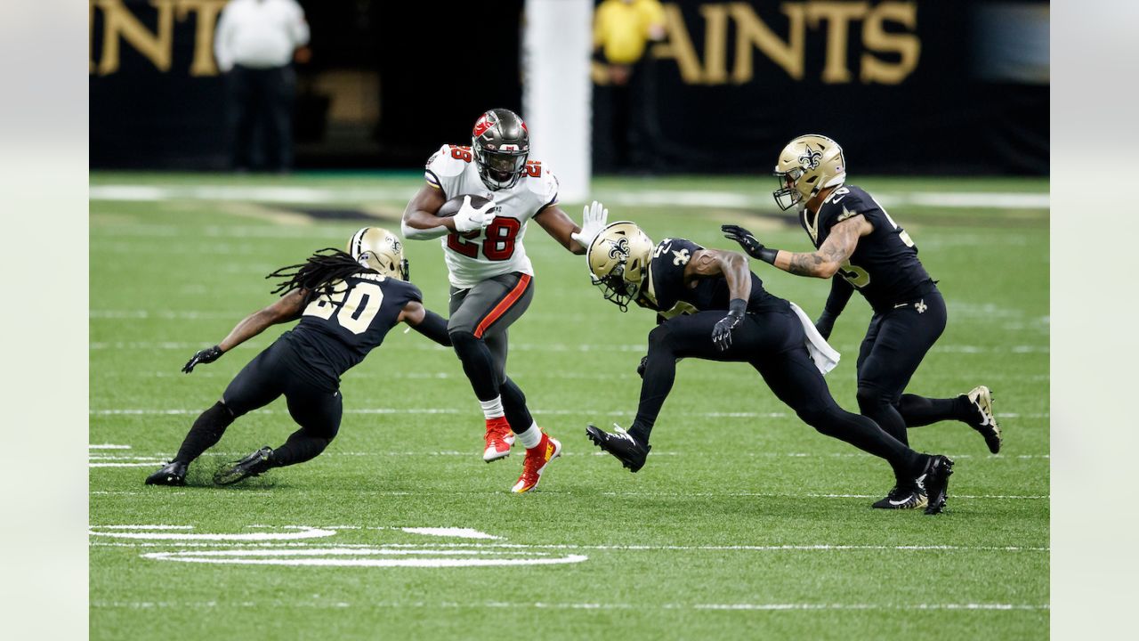
<path id="1" fill-rule="evenodd" d="M 672 389 L 677 359 L 744 362 L 803 422 L 885 459 L 899 478 L 924 480 L 929 492 L 926 513 L 941 512 L 953 462 L 917 453 L 874 421 L 839 407 L 817 365 L 819 347 L 808 340 L 804 320 L 789 302 L 763 289 L 747 269 L 746 257 L 682 238 L 665 238 L 654 248 L 632 222 L 614 222 L 590 243 L 589 267 L 606 300 L 622 310 L 636 302 L 655 310 L 659 320 L 649 332 L 648 356 L 638 370 L 644 381 L 633 424 L 628 431 L 587 429 L 595 444 L 626 468 L 636 472 L 645 464 L 649 432 Z"/>

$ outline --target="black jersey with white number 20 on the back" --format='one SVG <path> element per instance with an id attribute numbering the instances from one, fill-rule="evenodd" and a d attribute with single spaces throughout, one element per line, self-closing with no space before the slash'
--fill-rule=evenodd
<path id="1" fill-rule="evenodd" d="M 313 382 L 337 384 L 341 374 L 384 342 L 410 301 L 423 301 L 411 283 L 357 274 L 339 283 L 334 295 L 313 298 L 281 340 L 293 346 L 298 370 Z"/>

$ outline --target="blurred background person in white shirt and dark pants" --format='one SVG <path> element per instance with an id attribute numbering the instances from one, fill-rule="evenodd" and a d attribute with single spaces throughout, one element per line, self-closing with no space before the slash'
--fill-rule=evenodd
<path id="1" fill-rule="evenodd" d="M 292 62 L 308 43 L 309 24 L 295 0 L 232 0 L 222 9 L 214 56 L 228 82 L 233 169 L 253 168 L 259 125 L 265 143 L 264 169 L 285 172 L 293 168 L 296 74 Z"/>

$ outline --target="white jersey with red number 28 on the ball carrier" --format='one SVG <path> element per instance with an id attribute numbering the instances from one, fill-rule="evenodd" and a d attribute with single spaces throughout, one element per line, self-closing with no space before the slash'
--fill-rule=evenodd
<path id="1" fill-rule="evenodd" d="M 526 222 L 558 202 L 558 179 L 538 161 L 526 162 L 526 172 L 509 189 L 492 192 L 478 177 L 470 147 L 443 145 L 427 161 L 427 182 L 443 190 L 443 197 L 483 196 L 494 203 L 494 220 L 477 237 L 443 236 L 443 257 L 451 286 L 467 290 L 481 281 L 522 271 L 534 275 L 522 238 Z"/>

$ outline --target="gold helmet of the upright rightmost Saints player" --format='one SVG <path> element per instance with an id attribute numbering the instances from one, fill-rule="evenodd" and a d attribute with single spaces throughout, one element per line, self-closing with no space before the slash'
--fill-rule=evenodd
<path id="1" fill-rule="evenodd" d="M 779 189 L 771 193 L 781 210 L 810 201 L 827 187 L 846 181 L 846 159 L 843 148 L 826 136 L 800 136 L 779 152 L 776 163 Z"/>

